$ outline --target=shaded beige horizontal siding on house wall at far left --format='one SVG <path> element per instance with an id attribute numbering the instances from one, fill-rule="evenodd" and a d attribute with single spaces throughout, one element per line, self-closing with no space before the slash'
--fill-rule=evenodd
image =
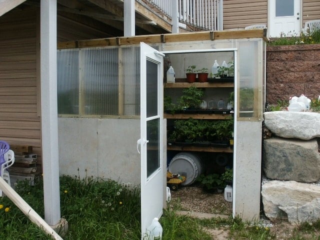
<path id="1" fill-rule="evenodd" d="M 0 17 L 0 139 L 32 146 L 41 163 L 36 86 L 36 10 Z"/>

